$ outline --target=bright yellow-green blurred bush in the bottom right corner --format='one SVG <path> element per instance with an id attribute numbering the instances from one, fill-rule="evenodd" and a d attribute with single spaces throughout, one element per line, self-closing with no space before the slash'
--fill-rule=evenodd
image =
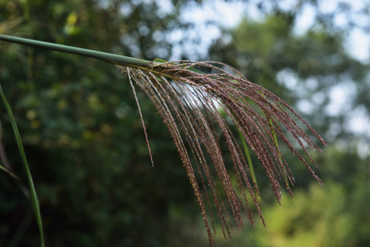
<path id="1" fill-rule="evenodd" d="M 318 159 L 323 186 L 296 189 L 293 199 L 284 193 L 281 205 L 262 208 L 266 227 L 256 224 L 247 233 L 235 232 L 230 241 L 219 239 L 220 246 L 368 246 L 369 159 L 336 147 L 325 151 Z M 356 172 L 346 174 L 349 164 Z M 336 178 L 339 173 L 343 180 Z"/>

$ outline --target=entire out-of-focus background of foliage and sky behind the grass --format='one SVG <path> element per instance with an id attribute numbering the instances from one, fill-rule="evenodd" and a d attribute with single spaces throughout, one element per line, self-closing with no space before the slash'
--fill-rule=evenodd
<path id="1" fill-rule="evenodd" d="M 284 192 L 281 206 L 256 165 L 267 226 L 257 216 L 255 228 L 246 221 L 228 240 L 216 227 L 218 246 L 370 246 L 369 14 L 369 1 L 0 0 L 0 33 L 232 65 L 288 102 L 329 145 L 313 154 L 323 186 L 288 161 L 295 197 Z M 34 176 L 47 246 L 208 246 L 169 132 L 138 92 L 151 167 L 130 84 L 114 66 L 0 43 L 0 83 Z M 0 151 L 27 184 L 2 103 L 0 124 Z M 0 246 L 39 245 L 32 206 L 0 171 Z"/>

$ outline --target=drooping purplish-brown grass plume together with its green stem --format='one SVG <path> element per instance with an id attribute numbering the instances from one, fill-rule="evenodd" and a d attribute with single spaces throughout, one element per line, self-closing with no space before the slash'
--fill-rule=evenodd
<path id="1" fill-rule="evenodd" d="M 323 145 L 326 145 L 325 141 L 282 99 L 249 82 L 226 64 L 146 61 L 5 35 L 0 35 L 0 40 L 97 58 L 111 62 L 127 73 L 135 97 L 133 82 L 151 99 L 171 133 L 204 217 L 211 246 L 214 246 L 214 239 L 209 220 L 213 222 L 214 208 L 225 238 L 230 237 L 230 227 L 233 225 L 230 218 L 234 219 L 238 228 L 243 228 L 242 213 L 247 213 L 251 224 L 254 224 L 247 193 L 250 194 L 251 203 L 256 206 L 263 222 L 256 199 L 259 191 L 253 179 L 251 164 L 247 162 L 248 157 L 243 154 L 233 130 L 240 132 L 241 137 L 258 157 L 279 202 L 279 179 L 284 180 L 288 191 L 288 184 L 293 184 L 294 181 L 291 169 L 280 150 L 281 144 L 288 147 L 321 183 L 310 167 L 310 163 L 316 163 L 307 148 L 320 150 L 310 135 Z M 137 98 L 136 101 L 139 104 Z M 140 106 L 138 107 L 140 110 Z M 227 123 L 219 111 L 220 108 L 223 108 L 232 124 Z M 141 112 L 140 117 L 143 121 Z M 144 121 L 143 127 L 149 148 Z M 303 128 L 306 128 L 310 135 Z M 290 133 L 291 137 L 286 137 L 286 132 Z M 221 151 L 221 137 L 225 139 L 231 154 L 231 169 L 230 165 L 225 163 Z M 277 139 L 280 140 L 280 145 Z M 304 150 L 304 156 L 290 139 Z M 237 182 L 236 186 L 234 180 Z M 214 207 L 211 206 L 210 198 L 214 200 Z"/>

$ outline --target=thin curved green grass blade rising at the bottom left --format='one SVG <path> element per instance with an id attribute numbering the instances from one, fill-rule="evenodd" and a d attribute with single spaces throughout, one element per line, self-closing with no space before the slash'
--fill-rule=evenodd
<path id="1" fill-rule="evenodd" d="M 29 188 L 31 190 L 31 195 L 32 195 L 32 202 L 34 203 L 34 211 L 35 211 L 35 215 L 36 215 L 38 229 L 40 231 L 40 242 L 41 242 L 41 246 L 45 247 L 44 231 L 42 229 L 42 220 L 41 220 L 41 213 L 40 213 L 40 204 L 38 202 L 34 181 L 32 180 L 31 171 L 29 170 L 29 166 L 28 166 L 28 163 L 27 163 L 27 158 L 25 156 L 25 150 L 23 148 L 23 144 L 22 144 L 22 140 L 21 140 L 21 135 L 19 134 L 18 127 L 16 126 L 16 121 L 15 121 L 14 115 L 12 113 L 12 108 L 10 107 L 10 104 L 9 104 L 8 100 L 5 98 L 5 95 L 3 93 L 3 89 L 1 87 L 1 84 L 0 84 L 0 96 L 3 99 L 6 110 L 8 110 L 8 115 L 10 117 L 10 122 L 12 123 L 12 128 L 13 128 L 13 131 L 14 131 L 14 135 L 16 137 L 16 143 L 18 144 L 18 150 L 21 153 L 23 165 L 25 165 L 25 171 L 26 171 L 26 174 L 27 174 Z"/>

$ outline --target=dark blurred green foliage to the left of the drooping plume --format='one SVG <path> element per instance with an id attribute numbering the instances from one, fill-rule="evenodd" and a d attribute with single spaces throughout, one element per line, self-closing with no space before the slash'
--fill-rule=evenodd
<path id="1" fill-rule="evenodd" d="M 132 47 L 120 42 L 130 34 L 140 51 L 153 51 L 150 59 L 156 54 L 149 45 L 156 42 L 145 39 L 166 19 L 149 14 L 156 6 L 145 3 L 130 3 L 128 16 L 94 1 L 0 3 L 2 23 L 23 16 L 25 5 L 29 10 L 29 20 L 6 34 L 132 56 Z M 140 36 L 143 14 L 157 18 L 147 21 L 158 27 Z M 151 167 L 130 84 L 114 66 L 42 49 L 28 60 L 27 47 L 1 45 L 1 84 L 39 191 L 47 246 L 163 246 L 173 238 L 163 234 L 174 231 L 172 204 L 189 207 L 189 215 L 197 217 L 169 133 L 149 99 L 138 93 L 155 160 Z M 0 114 L 5 152 L 24 179 L 5 108 Z M 0 176 L 0 245 L 38 246 L 35 222 L 27 221 L 31 205 L 9 176 Z"/>

